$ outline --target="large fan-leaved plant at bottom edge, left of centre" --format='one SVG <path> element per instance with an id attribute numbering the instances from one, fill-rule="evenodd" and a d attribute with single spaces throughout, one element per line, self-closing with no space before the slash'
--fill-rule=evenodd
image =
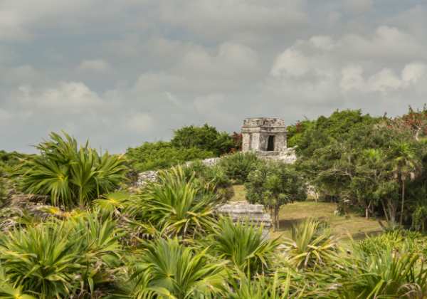
<path id="1" fill-rule="evenodd" d="M 223 290 L 225 262 L 210 258 L 178 239 L 148 242 L 130 262 L 132 298 L 211 298 Z M 222 297 L 222 296 L 221 296 Z"/>

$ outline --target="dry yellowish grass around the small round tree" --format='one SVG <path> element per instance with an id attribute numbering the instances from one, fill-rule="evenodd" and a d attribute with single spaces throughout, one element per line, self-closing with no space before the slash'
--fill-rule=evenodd
<path id="1" fill-rule="evenodd" d="M 236 185 L 233 187 L 235 195 L 231 201 L 245 200 L 245 187 Z M 273 236 L 290 236 L 292 224 L 297 224 L 307 217 L 322 219 L 330 224 L 332 232 L 342 238 L 348 235 L 354 239 L 364 238 L 366 234 L 376 234 L 381 231 L 381 226 L 374 219 L 365 219 L 355 214 L 347 216 L 336 216 L 334 210 L 336 204 L 328 202 L 300 201 L 287 204 L 280 209 L 280 230 L 273 233 Z"/>

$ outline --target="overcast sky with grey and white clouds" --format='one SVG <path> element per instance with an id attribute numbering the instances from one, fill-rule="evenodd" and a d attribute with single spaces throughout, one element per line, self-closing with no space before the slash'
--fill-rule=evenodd
<path id="1" fill-rule="evenodd" d="M 427 0 L 0 0 L 0 150 L 427 103 Z"/>

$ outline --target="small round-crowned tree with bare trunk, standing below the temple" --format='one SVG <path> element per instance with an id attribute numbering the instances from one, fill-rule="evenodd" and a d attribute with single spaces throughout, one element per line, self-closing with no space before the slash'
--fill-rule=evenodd
<path id="1" fill-rule="evenodd" d="M 281 162 L 259 164 L 248 175 L 245 186 L 248 201 L 251 204 L 263 204 L 270 211 L 275 231 L 279 227 L 280 206 L 307 197 L 301 174 L 292 165 Z"/>

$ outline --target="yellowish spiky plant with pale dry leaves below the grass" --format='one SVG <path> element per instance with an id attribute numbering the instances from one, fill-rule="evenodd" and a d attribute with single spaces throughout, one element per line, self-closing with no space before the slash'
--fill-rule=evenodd
<path id="1" fill-rule="evenodd" d="M 296 268 L 317 268 L 329 265 L 337 256 L 337 239 L 322 229 L 320 221 L 306 219 L 292 226 L 292 236 L 285 238 L 285 258 Z"/>

